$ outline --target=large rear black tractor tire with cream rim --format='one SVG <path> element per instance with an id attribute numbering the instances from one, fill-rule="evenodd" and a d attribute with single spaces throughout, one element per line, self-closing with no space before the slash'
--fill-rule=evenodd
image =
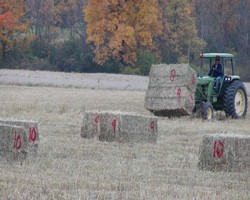
<path id="1" fill-rule="evenodd" d="M 223 100 L 227 116 L 233 119 L 245 118 L 247 113 L 247 93 L 241 81 L 236 80 L 226 88 Z"/>

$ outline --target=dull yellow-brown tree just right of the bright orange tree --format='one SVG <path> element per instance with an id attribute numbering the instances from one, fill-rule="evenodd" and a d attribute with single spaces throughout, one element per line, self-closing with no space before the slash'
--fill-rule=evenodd
<path id="1" fill-rule="evenodd" d="M 205 43 L 198 37 L 191 4 L 187 0 L 168 0 L 165 5 L 163 38 L 168 62 L 188 62 L 192 54 L 198 58 Z"/>

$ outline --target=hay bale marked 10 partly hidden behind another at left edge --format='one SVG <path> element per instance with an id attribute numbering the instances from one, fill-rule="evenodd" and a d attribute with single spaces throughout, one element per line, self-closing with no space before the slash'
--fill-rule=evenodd
<path id="1" fill-rule="evenodd" d="M 37 121 L 25 121 L 25 120 L 15 120 L 15 119 L 0 119 L 1 124 L 8 124 L 12 126 L 24 127 L 25 133 L 27 134 L 27 156 L 35 157 L 38 152 L 39 143 L 39 132 L 38 132 L 38 122 Z"/>

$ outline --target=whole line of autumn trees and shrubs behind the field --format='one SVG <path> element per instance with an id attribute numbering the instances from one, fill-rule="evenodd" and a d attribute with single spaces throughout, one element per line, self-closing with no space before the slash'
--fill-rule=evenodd
<path id="1" fill-rule="evenodd" d="M 250 77 L 248 0 L 0 0 L 0 66 L 147 75 L 233 53 Z"/>

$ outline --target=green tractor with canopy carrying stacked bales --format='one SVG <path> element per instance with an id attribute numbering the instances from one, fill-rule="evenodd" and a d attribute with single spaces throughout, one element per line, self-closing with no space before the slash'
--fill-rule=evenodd
<path id="1" fill-rule="evenodd" d="M 244 118 L 247 113 L 247 92 L 238 75 L 234 74 L 233 55 L 229 53 L 202 53 L 201 66 L 195 92 L 194 112 L 201 110 L 203 119 L 210 120 L 214 110 L 225 111 L 233 119 Z M 218 82 L 211 74 L 203 76 L 203 71 L 210 71 L 219 58 L 223 75 Z"/>

